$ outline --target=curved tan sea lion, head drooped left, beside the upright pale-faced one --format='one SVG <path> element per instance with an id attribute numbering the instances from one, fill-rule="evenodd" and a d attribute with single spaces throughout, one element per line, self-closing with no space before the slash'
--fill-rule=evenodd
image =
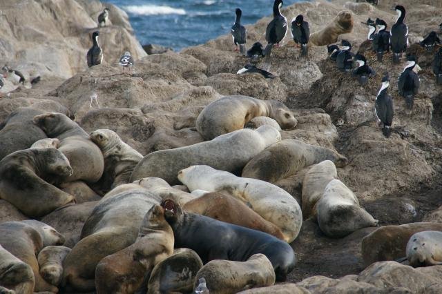
<path id="1" fill-rule="evenodd" d="M 89 135 L 66 115 L 56 112 L 34 117 L 34 124 L 50 138 L 60 140 L 59 150 L 68 157 L 74 173 L 66 182 L 79 179 L 95 183 L 103 175 L 102 151 L 89 139 Z"/>

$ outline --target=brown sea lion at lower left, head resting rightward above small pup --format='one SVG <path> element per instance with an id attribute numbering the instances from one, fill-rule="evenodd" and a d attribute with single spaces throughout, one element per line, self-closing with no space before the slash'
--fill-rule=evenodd
<path id="1" fill-rule="evenodd" d="M 37 254 L 45 245 L 63 243 L 64 237 L 54 228 L 36 220 L 0 224 L 0 245 L 32 268 L 35 277 L 33 289 L 35 292 L 58 292 L 57 287 L 48 284 L 41 277 Z"/>

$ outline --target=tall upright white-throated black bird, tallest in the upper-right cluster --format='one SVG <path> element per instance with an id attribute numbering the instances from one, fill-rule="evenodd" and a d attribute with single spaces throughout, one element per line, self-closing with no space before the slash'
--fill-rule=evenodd
<path id="1" fill-rule="evenodd" d="M 398 5 L 394 8 L 398 13 L 398 19 L 390 31 L 390 46 L 393 51 L 393 62 L 399 63 L 401 55 L 408 46 L 408 27 L 403 20 L 405 19 L 405 8 Z"/>

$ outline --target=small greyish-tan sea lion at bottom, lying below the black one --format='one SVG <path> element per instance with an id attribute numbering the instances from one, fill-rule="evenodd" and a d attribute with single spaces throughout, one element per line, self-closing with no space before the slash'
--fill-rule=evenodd
<path id="1" fill-rule="evenodd" d="M 202 277 L 206 279 L 211 294 L 238 293 L 275 284 L 273 266 L 263 254 L 251 255 L 245 262 L 212 260 L 198 271 L 195 288 Z"/>

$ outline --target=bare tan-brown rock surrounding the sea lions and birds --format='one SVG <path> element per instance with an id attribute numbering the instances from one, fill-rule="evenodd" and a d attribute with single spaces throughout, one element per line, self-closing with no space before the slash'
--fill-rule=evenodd
<path id="1" fill-rule="evenodd" d="M 340 72 L 327 58 L 326 46 L 311 46 L 308 57 L 300 57 L 290 34 L 283 46 L 273 48 L 271 57 L 255 63 L 276 75 L 274 79 L 265 79 L 258 74 L 236 74 L 249 59 L 232 51 L 231 35 L 181 52 L 147 55 L 135 39 L 126 13 L 111 4 L 98 0 L 0 0 L 0 62 L 23 72 L 27 81 L 24 85 L 5 81 L 0 91 L 0 140 L 7 141 L 7 132 L 14 131 L 11 123 L 7 130 L 6 119 L 23 108 L 32 108 L 63 112 L 87 134 L 111 129 L 130 148 L 146 156 L 202 143 L 204 139 L 195 121 L 204 107 L 221 97 L 245 95 L 262 101 L 276 100 L 285 104 L 297 121 L 294 129 L 280 130 L 282 141 L 299 140 L 345 156 L 346 166 L 336 164 L 337 179 L 379 221 L 378 226 L 422 222 L 424 227 L 438 224 L 441 227 L 432 230 L 442 231 L 442 88 L 431 71 L 436 48 L 427 52 L 418 43 L 429 32 L 439 32 L 442 3 L 401 1 L 407 7 L 410 28 L 407 53 L 417 55 L 421 67 L 421 90 L 410 114 L 397 92 L 403 63 L 392 63 L 391 52 L 379 63 L 376 54 L 365 49 L 367 26 L 363 22 L 368 17 L 381 17 L 390 28 L 395 21 L 396 15 L 390 11 L 395 2 L 380 2 L 372 6 L 344 0 L 312 1 L 282 9 L 287 19 L 304 14 L 311 32 L 321 30 L 343 10 L 351 14 L 352 32 L 340 35 L 339 39 L 351 41 L 354 52 L 363 52 L 377 73 L 367 85 L 360 86 L 357 79 Z M 110 10 L 111 25 L 99 29 L 104 62 L 87 68 L 90 35 L 97 29 L 95 19 L 105 7 Z M 256 41 L 265 43 L 265 28 L 270 20 L 265 17 L 247 26 L 248 46 Z M 131 73 L 122 72 L 117 65 L 127 50 L 135 59 Z M 390 72 L 395 111 L 389 138 L 383 136 L 373 115 L 384 72 Z M 30 79 L 37 76 L 41 81 L 30 85 Z M 22 126 L 17 128 L 22 130 Z M 303 179 L 310 168 L 306 166 L 273 184 L 302 206 Z M 232 173 L 238 175 L 238 170 Z M 103 196 L 94 185 L 77 185 L 59 186 L 75 196 L 75 206 L 59 208 L 38 218 L 63 234 L 64 246 L 70 248 L 79 242 L 81 227 Z M 185 187 L 184 190 L 189 192 Z M 0 225 L 24 219 L 30 217 L 0 199 Z M 363 239 L 377 229 L 361 228 L 346 237 L 331 238 L 317 222 L 305 219 L 299 235 L 290 244 L 296 253 L 296 266 L 287 277 L 290 284 L 276 283 L 275 288 L 244 293 L 442 291 L 441 265 L 413 268 L 394 262 L 403 256 L 365 264 Z M 63 286 L 60 290 L 76 293 Z"/>

